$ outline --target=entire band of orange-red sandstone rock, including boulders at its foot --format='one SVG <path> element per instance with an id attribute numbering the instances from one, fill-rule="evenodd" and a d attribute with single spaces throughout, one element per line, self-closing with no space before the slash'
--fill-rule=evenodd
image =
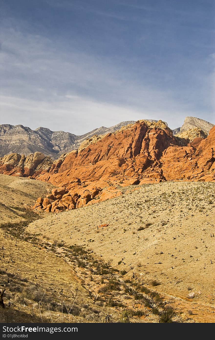
<path id="1" fill-rule="evenodd" d="M 20 155 L 0 159 L 0 172 L 25 173 Z M 31 157 L 31 160 L 35 157 Z M 36 158 L 35 158 L 36 159 Z M 37 162 L 42 159 L 38 158 Z M 137 121 L 85 149 L 62 155 L 51 168 L 31 167 L 31 177 L 56 185 L 35 208 L 58 212 L 121 194 L 119 186 L 168 180 L 215 181 L 215 126 L 205 139 L 187 145 L 161 121 Z M 5 165 L 7 162 L 7 165 Z M 46 160 L 42 159 L 44 164 Z M 17 164 L 19 168 L 17 168 Z"/>

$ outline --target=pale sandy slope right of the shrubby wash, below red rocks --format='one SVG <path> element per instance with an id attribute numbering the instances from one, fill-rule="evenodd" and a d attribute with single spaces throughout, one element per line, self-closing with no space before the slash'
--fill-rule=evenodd
<path id="1" fill-rule="evenodd" d="M 194 292 L 194 303 L 215 306 L 215 184 L 166 182 L 129 189 L 123 197 L 47 215 L 28 230 L 86 245 L 113 258 L 128 275 L 140 272 L 146 283 L 157 279 L 159 291 L 183 299 Z"/>

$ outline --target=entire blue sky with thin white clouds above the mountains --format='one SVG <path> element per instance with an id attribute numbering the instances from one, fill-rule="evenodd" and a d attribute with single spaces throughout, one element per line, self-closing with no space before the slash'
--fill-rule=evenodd
<path id="1" fill-rule="evenodd" d="M 214 0 L 1 0 L 0 123 L 215 124 Z"/>

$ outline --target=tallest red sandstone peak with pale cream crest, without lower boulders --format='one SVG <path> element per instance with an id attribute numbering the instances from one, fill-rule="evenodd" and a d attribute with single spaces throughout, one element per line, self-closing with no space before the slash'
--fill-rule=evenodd
<path id="1" fill-rule="evenodd" d="M 137 121 L 120 131 L 107 134 L 85 149 L 72 151 L 53 163 L 50 171 L 37 176 L 54 185 L 68 189 L 99 181 L 104 188 L 108 182 L 123 185 L 138 184 L 146 169 L 160 159 L 169 146 L 178 146 L 178 140 L 163 122 Z M 158 172 L 151 182 L 163 176 Z"/>

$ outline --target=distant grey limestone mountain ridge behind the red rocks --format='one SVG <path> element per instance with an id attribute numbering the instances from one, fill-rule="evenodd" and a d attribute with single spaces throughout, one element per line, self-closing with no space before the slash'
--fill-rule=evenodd
<path id="1" fill-rule="evenodd" d="M 150 122 L 157 120 L 146 119 Z M 135 121 L 123 121 L 119 124 L 105 128 L 101 126 L 84 135 L 75 135 L 64 131 L 51 131 L 48 128 L 39 127 L 32 130 L 23 125 L 0 125 L 0 157 L 9 153 L 31 154 L 41 152 L 51 156 L 53 159 L 59 158 L 63 153 L 70 152 L 79 148 L 80 144 L 87 138 L 94 135 L 105 135 L 113 133 L 125 125 L 134 124 Z M 181 128 L 173 130 L 176 135 L 179 132 L 198 127 L 207 134 L 214 124 L 195 117 L 186 117 Z"/>

